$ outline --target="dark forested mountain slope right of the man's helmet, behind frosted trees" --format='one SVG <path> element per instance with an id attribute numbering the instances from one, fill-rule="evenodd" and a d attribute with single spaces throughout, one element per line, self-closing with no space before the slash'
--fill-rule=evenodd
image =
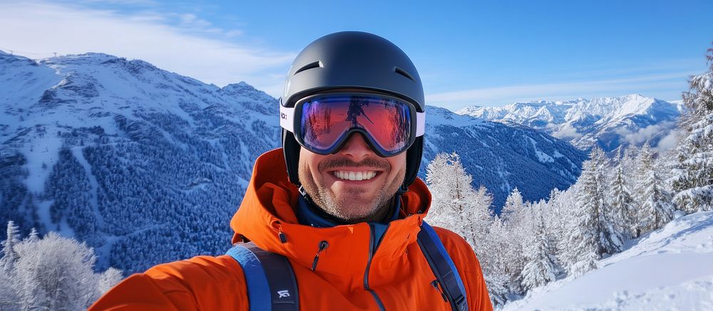
<path id="1" fill-rule="evenodd" d="M 456 152 L 473 186 L 486 186 L 496 211 L 515 187 L 528 201 L 566 189 L 577 181 L 586 155 L 567 142 L 520 125 L 503 125 L 427 106 L 424 161 Z M 421 164 L 425 176 L 426 165 Z M 548 190 L 549 189 L 549 190 Z M 547 193 L 545 193 L 547 192 Z"/>

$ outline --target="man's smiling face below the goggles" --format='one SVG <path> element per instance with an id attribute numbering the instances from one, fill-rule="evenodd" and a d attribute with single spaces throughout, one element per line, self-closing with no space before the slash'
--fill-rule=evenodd
<path id="1" fill-rule="evenodd" d="M 379 157 L 354 133 L 336 154 L 323 156 L 303 147 L 298 174 L 304 190 L 327 214 L 349 223 L 377 220 L 374 216 L 388 209 L 404 182 L 406 152 Z"/>

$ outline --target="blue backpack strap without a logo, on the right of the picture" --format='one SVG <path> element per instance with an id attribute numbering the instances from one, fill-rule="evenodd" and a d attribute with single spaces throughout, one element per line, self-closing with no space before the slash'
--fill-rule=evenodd
<path id="1" fill-rule="evenodd" d="M 468 310 L 468 300 L 466 299 L 466 286 L 463 285 L 461 275 L 458 274 L 456 265 L 451 260 L 451 256 L 443 247 L 438 234 L 426 221 L 421 225 L 421 231 L 417 241 L 421 251 L 426 256 L 426 260 L 431 265 L 431 270 L 436 275 L 436 280 L 443 288 L 443 294 L 451 304 L 453 310 Z"/>

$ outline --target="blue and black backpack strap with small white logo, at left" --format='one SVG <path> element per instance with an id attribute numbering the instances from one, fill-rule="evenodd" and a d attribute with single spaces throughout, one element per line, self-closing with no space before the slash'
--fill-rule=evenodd
<path id="1" fill-rule="evenodd" d="M 289 260 L 263 251 L 255 243 L 235 244 L 230 255 L 242 267 L 250 311 L 297 311 L 299 292 Z"/>

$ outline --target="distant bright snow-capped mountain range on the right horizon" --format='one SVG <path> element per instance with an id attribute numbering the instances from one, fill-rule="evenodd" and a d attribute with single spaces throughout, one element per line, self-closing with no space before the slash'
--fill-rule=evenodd
<path id="1" fill-rule="evenodd" d="M 653 146 L 676 127 L 682 105 L 638 94 L 579 98 L 562 102 L 515 102 L 503 107 L 471 106 L 458 110 L 485 120 L 543 130 L 580 149 L 595 144 L 612 151 L 620 145 Z"/>

